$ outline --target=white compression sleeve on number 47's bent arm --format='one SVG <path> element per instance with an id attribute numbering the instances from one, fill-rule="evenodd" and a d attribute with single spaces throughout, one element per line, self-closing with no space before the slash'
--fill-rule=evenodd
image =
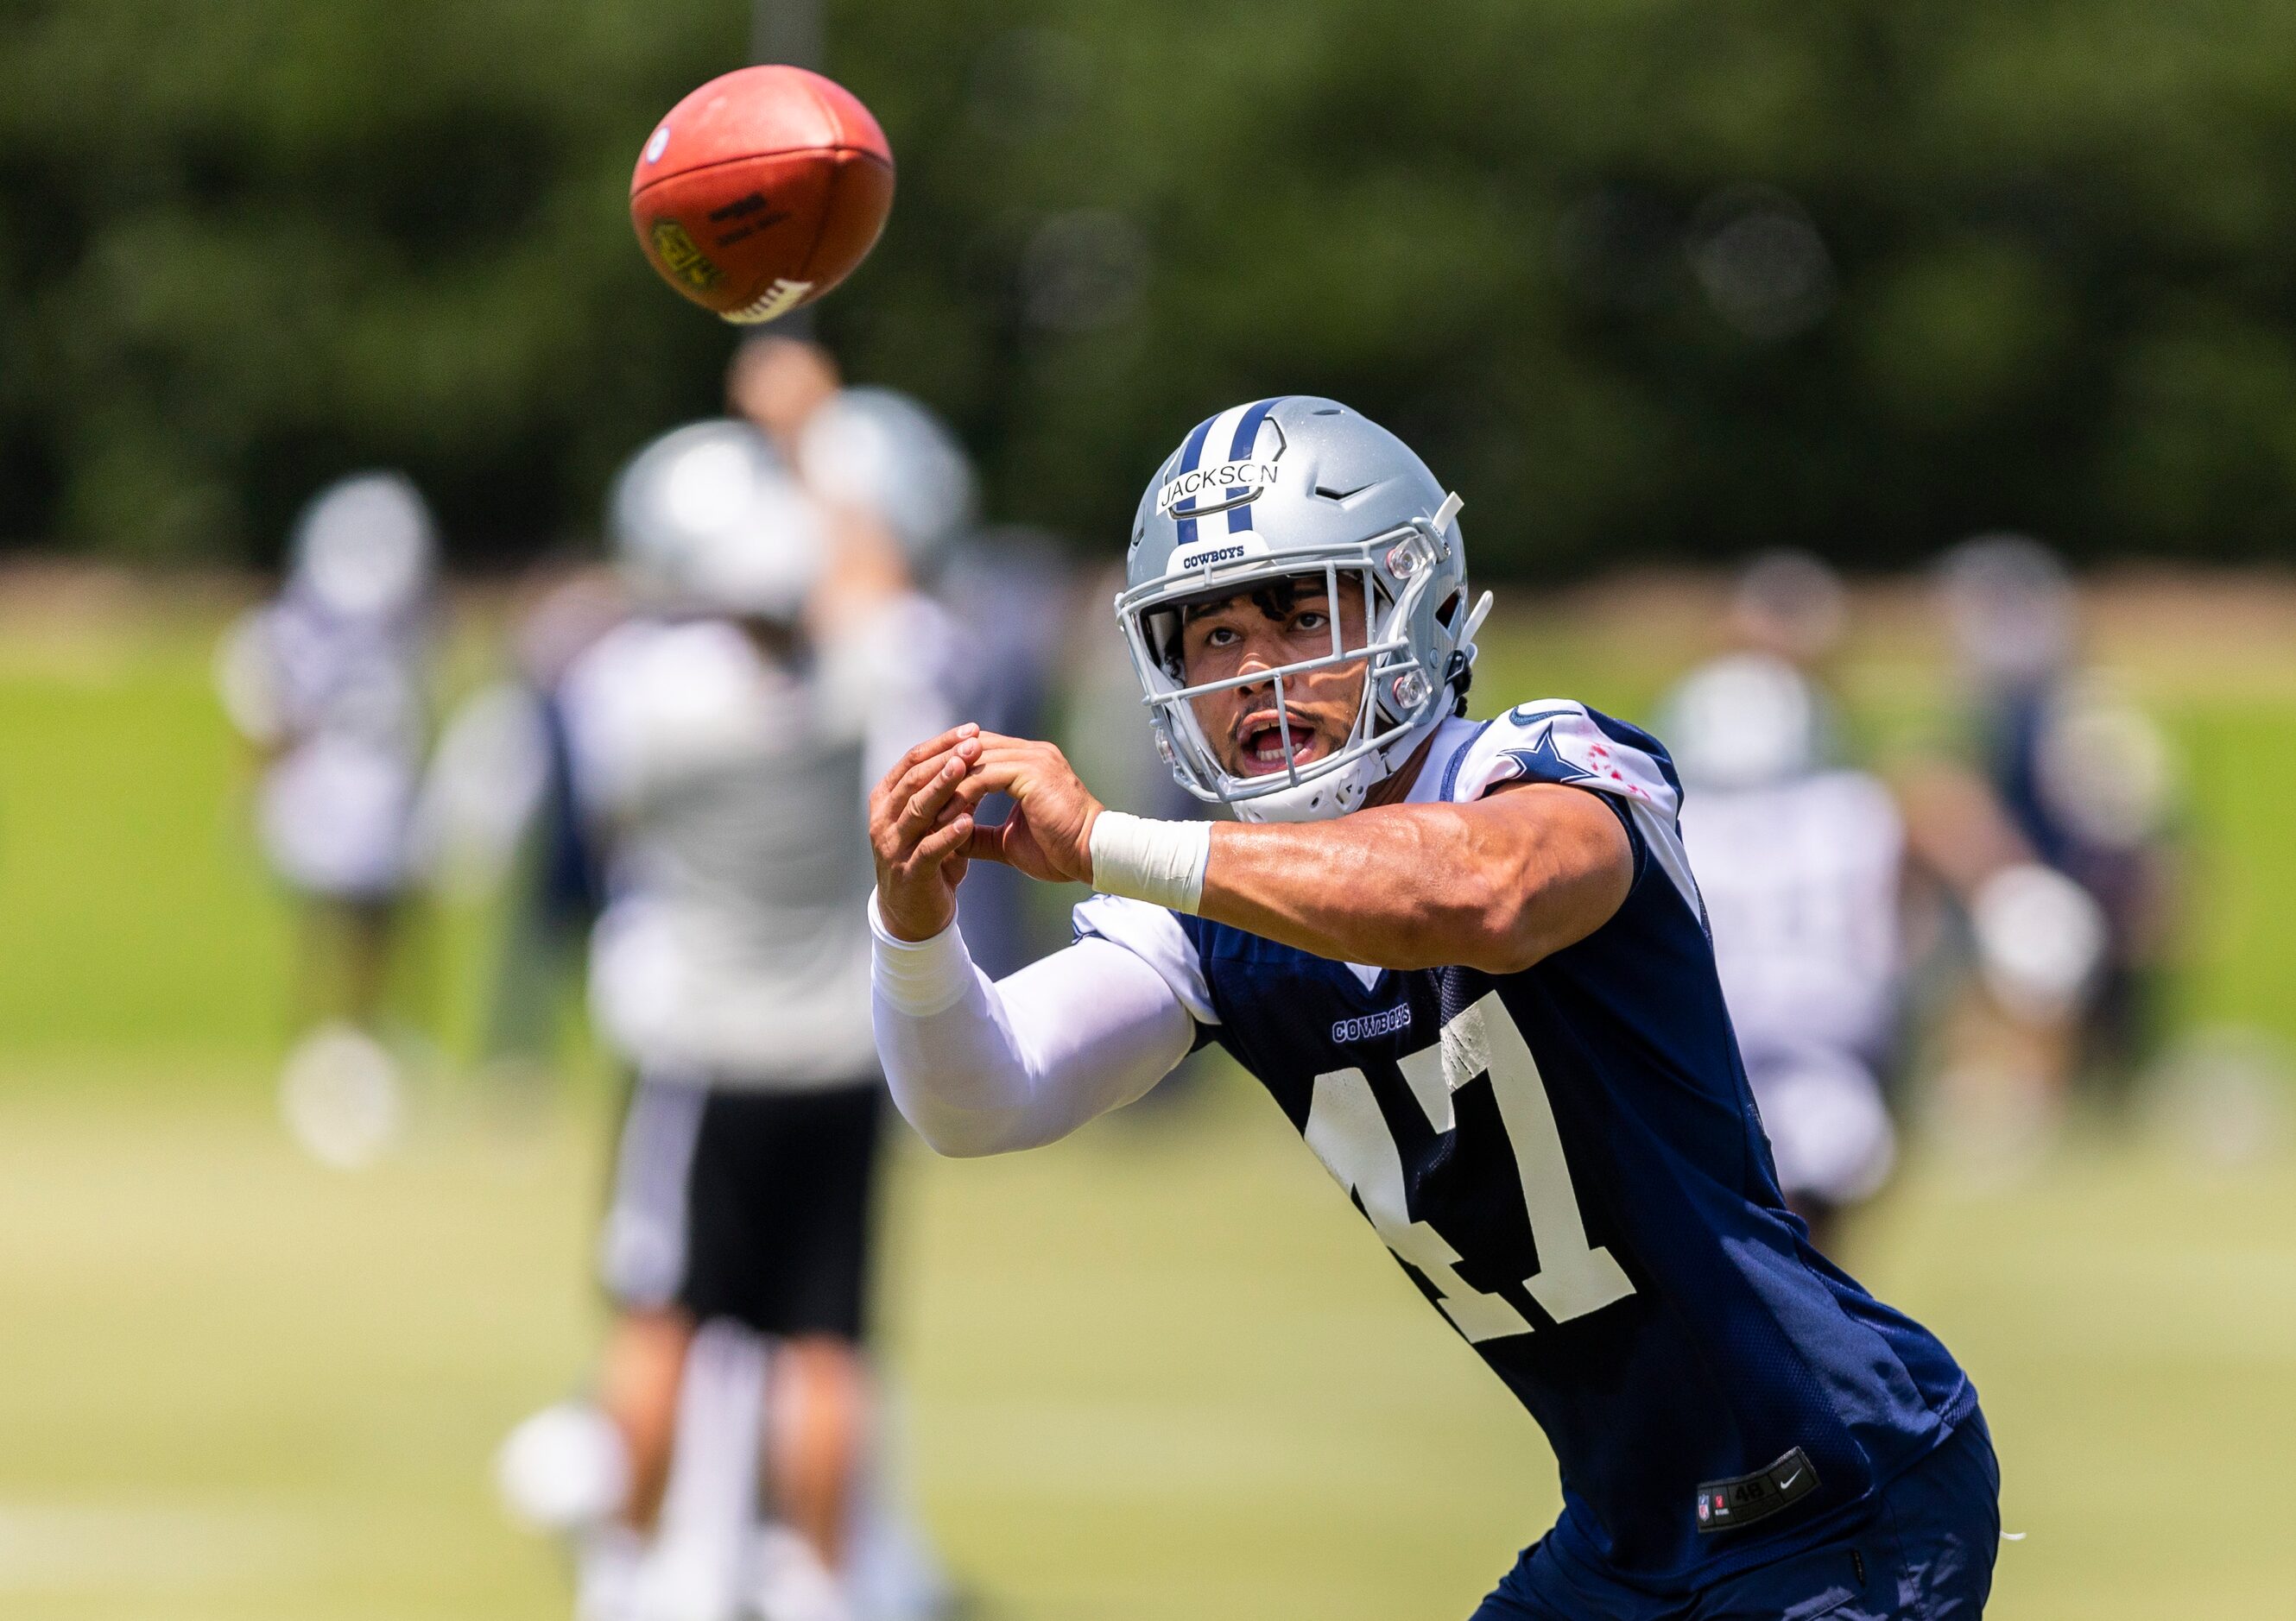
<path id="1" fill-rule="evenodd" d="M 951 923 L 925 941 L 877 939 L 872 1013 L 893 1102 L 944 1155 L 994 1155 L 1068 1137 L 1155 1086 L 1196 1038 L 1164 976 L 1123 946 L 1081 939 L 990 983 Z"/>

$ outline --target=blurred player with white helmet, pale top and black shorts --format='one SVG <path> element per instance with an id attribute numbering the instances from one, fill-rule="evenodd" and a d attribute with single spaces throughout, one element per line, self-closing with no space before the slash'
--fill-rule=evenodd
<path id="1" fill-rule="evenodd" d="M 583 1529 L 592 1621 L 928 1614 L 937 1577 L 868 1479 L 861 1357 L 872 620 L 822 613 L 824 512 L 744 422 L 643 450 L 611 526 L 645 611 L 558 707 L 606 875 L 590 996 L 636 1075 L 602 1233 L 618 1323 L 606 1421 L 537 1417 L 505 1486 Z"/>

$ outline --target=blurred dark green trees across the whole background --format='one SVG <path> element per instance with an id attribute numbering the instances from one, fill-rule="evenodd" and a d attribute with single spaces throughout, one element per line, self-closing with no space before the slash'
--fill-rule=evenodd
<path id="1" fill-rule="evenodd" d="M 406 464 L 459 551 L 592 523 L 730 333 L 625 220 L 742 0 L 0 0 L 0 533 L 266 556 Z M 2275 0 L 833 0 L 902 163 L 822 308 L 1114 546 L 1208 411 L 1414 439 L 1486 563 L 2296 528 Z"/>

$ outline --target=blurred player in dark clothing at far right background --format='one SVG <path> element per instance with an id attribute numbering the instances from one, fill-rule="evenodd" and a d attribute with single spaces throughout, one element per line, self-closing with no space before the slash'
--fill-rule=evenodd
<path id="1" fill-rule="evenodd" d="M 2158 983 L 2177 909 L 2167 742 L 2080 664 L 2080 604 L 2064 565 L 2023 535 L 1979 535 L 1940 569 L 1975 753 L 2032 854 L 2094 905 L 2050 909 L 2039 891 L 1998 898 L 2002 946 L 2037 964 L 2087 967 L 2071 980 L 2062 1038 L 2037 1056 L 2053 1095 L 2087 1088 L 2119 1107 L 2158 1036 Z M 1986 918 L 1979 916 L 1979 928 Z M 2002 985 L 2016 1010 L 2032 996 Z"/>

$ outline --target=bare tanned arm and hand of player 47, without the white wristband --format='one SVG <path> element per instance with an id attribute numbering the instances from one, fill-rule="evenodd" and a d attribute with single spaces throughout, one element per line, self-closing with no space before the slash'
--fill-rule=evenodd
<path id="1" fill-rule="evenodd" d="M 969 854 L 1031 877 L 1093 882 L 1102 806 L 1052 744 L 983 732 L 948 755 L 951 804 L 1015 799 Z M 1474 804 L 1401 804 L 1334 822 L 1221 822 L 1194 909 L 1320 957 L 1384 969 L 1513 974 L 1603 928 L 1626 900 L 1635 852 L 1596 794 L 1552 783 Z"/>

